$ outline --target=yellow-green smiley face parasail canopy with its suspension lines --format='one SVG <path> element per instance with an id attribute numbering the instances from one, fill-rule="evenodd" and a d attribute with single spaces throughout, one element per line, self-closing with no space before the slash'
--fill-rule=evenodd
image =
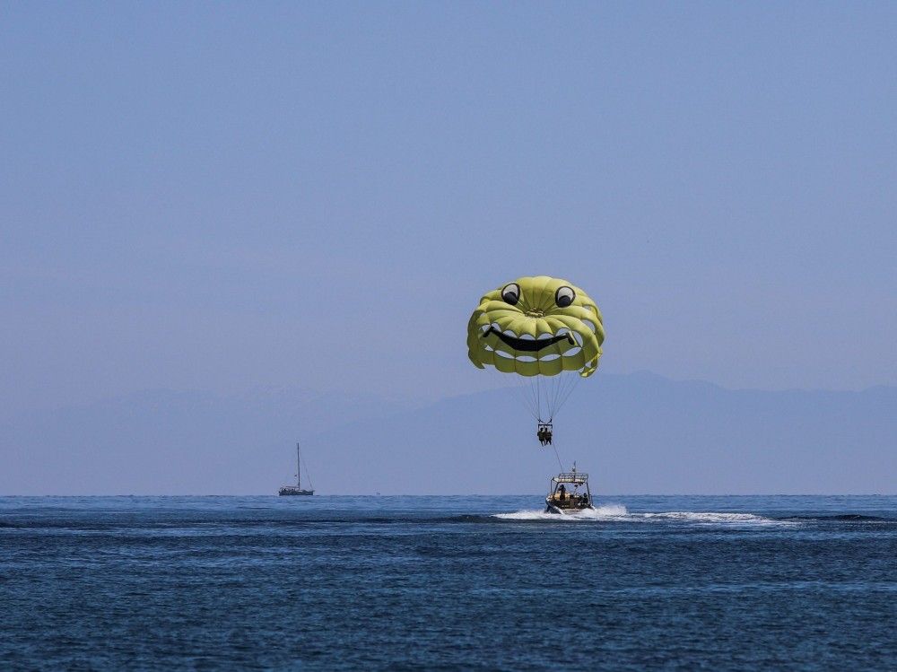
<path id="1" fill-rule="evenodd" d="M 539 423 L 540 440 L 576 383 L 596 371 L 604 340 L 595 301 L 547 275 L 521 277 L 484 294 L 467 323 L 467 356 L 477 368 L 527 381 L 522 396 Z"/>

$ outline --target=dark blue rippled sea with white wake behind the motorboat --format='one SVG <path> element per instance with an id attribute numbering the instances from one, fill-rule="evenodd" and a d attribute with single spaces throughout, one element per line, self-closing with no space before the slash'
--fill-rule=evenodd
<path id="1" fill-rule="evenodd" d="M 0 498 L 0 668 L 897 670 L 897 497 Z"/>

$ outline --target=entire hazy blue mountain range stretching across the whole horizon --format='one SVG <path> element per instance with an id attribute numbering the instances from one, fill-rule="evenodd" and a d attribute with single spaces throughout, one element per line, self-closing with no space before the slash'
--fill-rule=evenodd
<path id="1" fill-rule="evenodd" d="M 408 408 L 157 390 L 0 426 L 0 494 L 539 493 L 559 468 L 511 390 Z M 598 493 L 897 493 L 897 388 L 730 390 L 598 372 L 555 423 Z"/>

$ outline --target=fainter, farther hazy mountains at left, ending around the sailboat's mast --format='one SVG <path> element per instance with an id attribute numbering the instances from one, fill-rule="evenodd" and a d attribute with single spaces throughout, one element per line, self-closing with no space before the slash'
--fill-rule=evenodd
<path id="1" fill-rule="evenodd" d="M 0 423 L 0 495 L 276 493 L 295 479 L 295 441 L 407 407 L 301 388 L 153 389 L 33 412 Z"/>

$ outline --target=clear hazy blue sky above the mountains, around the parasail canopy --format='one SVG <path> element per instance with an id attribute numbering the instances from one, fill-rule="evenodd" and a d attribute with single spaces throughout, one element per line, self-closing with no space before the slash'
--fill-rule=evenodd
<path id="1" fill-rule="evenodd" d="M 897 384 L 897 4 L 4 3 L 0 406 L 492 386 L 518 275 L 606 371 Z"/>

